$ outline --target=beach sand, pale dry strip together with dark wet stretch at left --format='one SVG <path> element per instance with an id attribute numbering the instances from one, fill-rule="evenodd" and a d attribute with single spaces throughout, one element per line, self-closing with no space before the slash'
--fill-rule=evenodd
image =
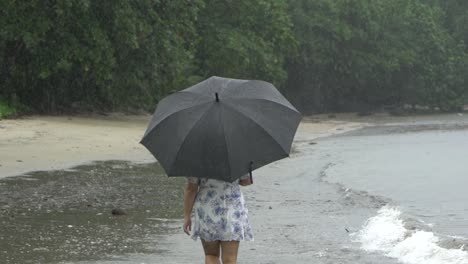
<path id="1" fill-rule="evenodd" d="M 138 143 L 148 120 L 117 115 L 0 121 L 0 259 L 144 263 L 142 258 L 172 258 L 166 238 L 180 233 L 184 180 L 166 177 Z M 311 136 L 359 126 L 305 118 L 293 148 L 312 144 Z M 75 167 L 79 164 L 86 165 Z M 125 215 L 112 215 L 113 209 Z M 181 239 L 192 249 L 198 246 Z"/>

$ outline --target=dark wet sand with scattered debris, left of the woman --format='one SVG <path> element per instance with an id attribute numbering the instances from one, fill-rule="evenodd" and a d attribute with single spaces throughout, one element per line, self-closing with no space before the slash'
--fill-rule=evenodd
<path id="1" fill-rule="evenodd" d="M 181 178 L 156 163 L 96 162 L 0 180 L 1 263 L 75 263 L 156 253 L 182 214 Z M 114 213 L 113 213 L 114 212 Z"/>

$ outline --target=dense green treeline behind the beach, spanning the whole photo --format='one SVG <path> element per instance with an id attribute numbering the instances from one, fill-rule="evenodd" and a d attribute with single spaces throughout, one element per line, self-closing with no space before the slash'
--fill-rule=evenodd
<path id="1" fill-rule="evenodd" d="M 468 102 L 465 0 L 0 0 L 0 103 L 153 110 L 211 75 L 306 113 Z"/>

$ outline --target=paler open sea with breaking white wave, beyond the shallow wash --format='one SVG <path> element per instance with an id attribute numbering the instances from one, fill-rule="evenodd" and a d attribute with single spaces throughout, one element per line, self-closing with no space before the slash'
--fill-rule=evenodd
<path id="1" fill-rule="evenodd" d="M 409 264 L 467 264 L 468 130 L 371 127 L 323 139 L 326 182 L 386 201 L 351 234 L 363 251 Z"/>

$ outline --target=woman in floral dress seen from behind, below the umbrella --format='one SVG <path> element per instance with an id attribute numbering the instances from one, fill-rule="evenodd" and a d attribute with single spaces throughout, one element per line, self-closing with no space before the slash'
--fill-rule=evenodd
<path id="1" fill-rule="evenodd" d="M 184 195 L 184 232 L 202 241 L 206 264 L 237 263 L 239 241 L 252 241 L 247 207 L 239 185 L 252 184 L 248 175 L 229 183 L 189 177 Z M 192 228 L 192 209 L 194 224 Z"/>

